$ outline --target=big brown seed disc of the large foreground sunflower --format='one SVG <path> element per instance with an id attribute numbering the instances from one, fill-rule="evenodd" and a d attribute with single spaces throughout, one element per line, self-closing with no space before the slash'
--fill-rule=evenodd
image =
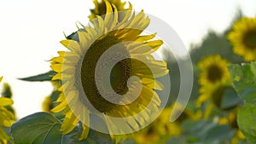
<path id="1" fill-rule="evenodd" d="M 117 94 L 125 95 L 128 91 L 127 81 L 131 77 L 130 55 L 124 44 L 118 44 L 118 48 L 115 49 L 119 50 L 114 52 L 108 50 L 117 43 L 119 40 L 111 33 L 108 33 L 108 37 L 98 38 L 87 50 L 81 65 L 82 90 L 90 104 L 99 112 L 108 112 L 116 107 L 116 104 L 108 100 L 121 101 L 123 96 Z M 107 51 L 110 51 L 109 54 L 102 58 L 104 53 L 108 53 Z M 119 60 L 120 57 L 122 60 Z M 99 60 L 102 61 L 100 64 Z M 108 76 L 109 66 L 116 60 L 118 62 L 113 65 Z M 100 72 L 96 72 L 97 66 L 100 67 Z M 113 91 L 109 90 L 109 79 Z M 84 96 L 80 95 L 79 98 L 86 104 Z"/>

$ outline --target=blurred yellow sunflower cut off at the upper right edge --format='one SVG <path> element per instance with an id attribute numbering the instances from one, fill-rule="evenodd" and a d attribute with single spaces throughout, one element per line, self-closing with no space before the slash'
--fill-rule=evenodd
<path id="1" fill-rule="evenodd" d="M 247 61 L 256 60 L 256 17 L 237 20 L 228 39 L 236 55 L 241 55 Z"/>

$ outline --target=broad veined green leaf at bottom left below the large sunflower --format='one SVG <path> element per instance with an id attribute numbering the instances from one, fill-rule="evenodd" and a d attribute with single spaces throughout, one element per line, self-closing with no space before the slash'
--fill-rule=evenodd
<path id="1" fill-rule="evenodd" d="M 20 119 L 11 127 L 11 134 L 15 144 L 75 144 L 78 141 L 78 130 L 73 130 L 68 135 L 60 132 L 61 122 L 46 112 L 38 112 Z"/>

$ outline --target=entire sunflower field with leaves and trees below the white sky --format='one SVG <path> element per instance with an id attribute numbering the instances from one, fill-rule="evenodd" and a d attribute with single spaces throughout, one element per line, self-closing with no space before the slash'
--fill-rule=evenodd
<path id="1" fill-rule="evenodd" d="M 52 84 L 41 112 L 17 118 L 2 82 L 0 144 L 256 144 L 256 16 L 238 12 L 186 53 L 132 3 L 86 3 L 49 72 L 19 78 Z"/>

